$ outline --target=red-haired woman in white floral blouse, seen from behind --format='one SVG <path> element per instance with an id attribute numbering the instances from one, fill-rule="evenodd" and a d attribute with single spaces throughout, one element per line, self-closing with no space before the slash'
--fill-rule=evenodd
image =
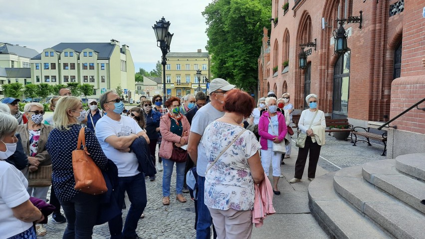
<path id="1" fill-rule="evenodd" d="M 251 237 L 254 184 L 261 183 L 264 171 L 258 154 L 260 145 L 254 133 L 240 124 L 254 107 L 254 100 L 246 92 L 239 89 L 227 91 L 224 116 L 207 126 L 201 142 L 209 163 L 205 177 L 205 204 L 220 239 Z"/>

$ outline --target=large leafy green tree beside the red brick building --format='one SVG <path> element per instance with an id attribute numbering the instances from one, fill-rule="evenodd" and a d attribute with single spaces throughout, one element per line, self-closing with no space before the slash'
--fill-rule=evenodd
<path id="1" fill-rule="evenodd" d="M 211 71 L 237 87 L 256 92 L 263 27 L 270 25 L 271 0 L 213 0 L 207 19 Z"/>

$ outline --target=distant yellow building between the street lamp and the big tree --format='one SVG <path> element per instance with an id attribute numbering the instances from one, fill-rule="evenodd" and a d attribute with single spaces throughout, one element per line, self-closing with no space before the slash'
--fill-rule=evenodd
<path id="1" fill-rule="evenodd" d="M 196 76 L 198 69 L 202 70 L 200 81 Z M 208 79 L 210 79 L 210 55 L 208 52 L 202 52 L 201 49 L 198 49 L 198 52 L 169 52 L 165 77 L 167 98 L 195 94 L 198 87 L 206 92 Z M 162 87 L 161 84 L 161 89 Z"/>

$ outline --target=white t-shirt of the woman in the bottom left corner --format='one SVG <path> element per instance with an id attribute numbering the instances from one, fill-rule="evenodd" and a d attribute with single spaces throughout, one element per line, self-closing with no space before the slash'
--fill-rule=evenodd
<path id="1" fill-rule="evenodd" d="M 12 208 L 29 199 L 28 181 L 13 165 L 0 160 L 0 237 L 10 238 L 25 232 L 32 223 L 25 223 L 13 216 Z"/>

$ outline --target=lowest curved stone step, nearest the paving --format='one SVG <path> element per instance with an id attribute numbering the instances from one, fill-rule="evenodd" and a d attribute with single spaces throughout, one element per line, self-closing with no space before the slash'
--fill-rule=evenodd
<path id="1" fill-rule="evenodd" d="M 389 235 L 342 200 L 333 188 L 335 172 L 316 177 L 308 187 L 311 214 L 331 237 L 389 239 Z"/>

